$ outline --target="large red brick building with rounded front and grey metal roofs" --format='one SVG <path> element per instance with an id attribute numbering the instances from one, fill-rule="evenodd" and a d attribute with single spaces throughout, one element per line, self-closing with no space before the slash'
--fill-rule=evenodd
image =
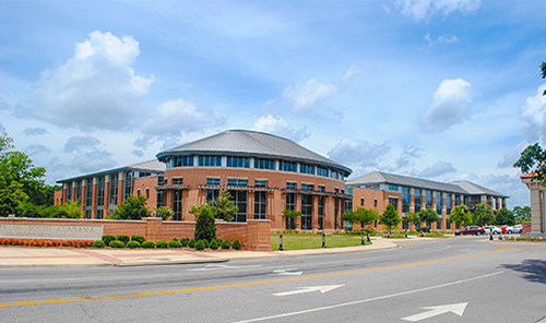
<path id="1" fill-rule="evenodd" d="M 341 215 L 359 206 L 382 213 L 391 203 L 404 216 L 434 206 L 442 223 L 454 205 L 479 202 L 499 208 L 508 196 L 466 181 L 441 183 L 385 172 L 345 181 L 352 170 L 289 140 L 229 130 L 161 152 L 157 159 L 59 180 L 56 204 L 80 201 L 85 218 L 104 218 L 128 195 L 144 194 L 151 210 L 170 207 L 175 222 L 194 220 L 192 205 L 214 202 L 227 190 L 235 222 L 269 219 L 284 229 L 284 210 L 301 212 L 301 230 L 339 230 Z M 91 189 L 90 189 L 91 188 Z M 500 202 L 502 201 L 502 202 Z"/>

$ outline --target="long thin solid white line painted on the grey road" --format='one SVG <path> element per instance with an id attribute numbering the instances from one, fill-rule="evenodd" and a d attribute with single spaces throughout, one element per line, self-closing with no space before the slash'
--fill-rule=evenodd
<path id="1" fill-rule="evenodd" d="M 283 313 L 283 314 L 263 316 L 263 318 L 258 318 L 258 319 L 250 319 L 250 320 L 245 320 L 245 321 L 237 321 L 236 323 L 260 322 L 260 321 L 266 321 L 266 320 L 273 320 L 273 319 L 280 319 L 280 318 L 288 318 L 288 316 L 294 316 L 294 315 L 299 315 L 299 314 L 312 313 L 312 312 L 318 312 L 318 311 L 324 311 L 324 310 L 330 310 L 330 309 L 343 308 L 343 307 L 348 307 L 348 306 L 355 306 L 355 304 L 370 302 L 370 301 L 375 301 L 375 300 L 399 297 L 399 296 L 404 296 L 404 295 L 411 295 L 411 294 L 415 294 L 415 292 L 422 292 L 422 291 L 432 290 L 432 289 L 437 289 L 437 288 L 453 286 L 453 285 L 458 285 L 458 284 L 468 283 L 468 282 L 473 282 L 473 280 L 482 279 L 482 278 L 487 278 L 487 277 L 491 277 L 491 276 L 503 274 L 503 273 L 505 272 L 496 272 L 496 273 L 491 273 L 491 274 L 487 274 L 487 275 L 483 275 L 483 276 L 477 276 L 477 277 L 473 277 L 473 278 L 456 280 L 456 282 L 452 282 L 452 283 L 447 283 L 447 284 L 441 284 L 441 285 L 436 285 L 436 286 L 430 286 L 430 287 L 425 287 L 425 288 L 419 288 L 419 289 L 414 289 L 414 290 L 395 292 L 395 294 L 385 295 L 385 296 L 378 296 L 378 297 L 373 297 L 373 298 L 355 300 L 355 301 L 349 301 L 349 302 L 339 303 L 339 304 L 333 304 L 333 306 L 328 306 L 328 307 L 314 308 L 314 309 L 309 309 L 309 310 L 305 310 L 305 311 Z"/>

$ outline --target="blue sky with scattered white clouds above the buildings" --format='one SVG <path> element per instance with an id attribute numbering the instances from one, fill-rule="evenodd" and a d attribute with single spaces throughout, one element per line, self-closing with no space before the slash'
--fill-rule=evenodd
<path id="1" fill-rule="evenodd" d="M 529 204 L 546 1 L 0 1 L 0 131 L 48 181 L 227 129 Z"/>

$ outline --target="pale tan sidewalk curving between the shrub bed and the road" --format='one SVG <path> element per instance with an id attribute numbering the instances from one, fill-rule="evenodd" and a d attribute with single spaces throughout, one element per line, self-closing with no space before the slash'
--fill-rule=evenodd
<path id="1" fill-rule="evenodd" d="M 0 247 L 0 270 L 31 267 L 100 267 L 216 263 L 236 260 L 369 252 L 397 248 L 396 240 L 371 238 L 373 244 L 286 251 L 236 251 L 187 249 L 78 249 Z"/>

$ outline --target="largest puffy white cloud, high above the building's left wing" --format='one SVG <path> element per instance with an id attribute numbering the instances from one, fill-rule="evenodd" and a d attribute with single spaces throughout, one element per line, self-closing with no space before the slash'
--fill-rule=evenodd
<path id="1" fill-rule="evenodd" d="M 154 77 L 135 75 L 139 43 L 93 32 L 76 43 L 74 57 L 41 72 L 28 101 L 16 112 L 62 128 L 129 129 L 139 99 Z"/>

